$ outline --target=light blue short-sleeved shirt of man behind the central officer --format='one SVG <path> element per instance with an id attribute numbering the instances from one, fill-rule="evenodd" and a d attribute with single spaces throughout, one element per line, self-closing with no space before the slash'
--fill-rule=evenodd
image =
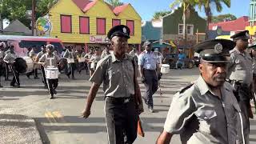
<path id="1" fill-rule="evenodd" d="M 138 56 L 138 65 L 143 66 L 146 70 L 155 70 L 158 64 L 158 54 L 152 51 L 144 50 L 142 54 Z"/>

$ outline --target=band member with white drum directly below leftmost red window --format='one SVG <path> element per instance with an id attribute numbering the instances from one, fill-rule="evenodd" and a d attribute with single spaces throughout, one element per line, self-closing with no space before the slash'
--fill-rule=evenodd
<path id="1" fill-rule="evenodd" d="M 70 74 L 72 75 L 72 79 L 74 79 L 74 70 L 75 70 L 75 59 L 74 53 L 73 53 L 73 46 L 67 46 L 67 50 L 65 54 L 63 55 L 63 58 L 67 59 L 68 66 L 66 69 L 66 75 L 68 78 L 70 78 Z"/>

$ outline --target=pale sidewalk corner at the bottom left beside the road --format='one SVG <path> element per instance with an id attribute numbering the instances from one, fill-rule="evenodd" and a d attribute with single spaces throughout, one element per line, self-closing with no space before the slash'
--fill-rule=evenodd
<path id="1" fill-rule="evenodd" d="M 0 114 L 0 142 L 42 144 L 34 119 L 18 114 Z"/>

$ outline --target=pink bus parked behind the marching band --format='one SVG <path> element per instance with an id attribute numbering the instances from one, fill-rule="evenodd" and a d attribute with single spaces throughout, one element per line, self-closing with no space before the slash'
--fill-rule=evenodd
<path id="1" fill-rule="evenodd" d="M 6 42 L 9 46 L 10 44 L 14 46 L 14 51 L 19 57 L 24 57 L 27 48 L 31 46 L 36 46 L 36 53 L 41 51 L 42 45 L 52 44 L 58 54 L 62 53 L 64 48 L 62 41 L 58 38 L 50 37 L 33 37 L 33 36 L 19 36 L 19 35 L 0 35 L 0 42 Z"/>

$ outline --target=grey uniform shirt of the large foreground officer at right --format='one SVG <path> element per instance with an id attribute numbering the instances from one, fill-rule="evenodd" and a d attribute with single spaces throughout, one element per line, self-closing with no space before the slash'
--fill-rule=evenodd
<path id="1" fill-rule="evenodd" d="M 180 134 L 182 144 L 235 144 L 241 110 L 233 90 L 225 82 L 219 98 L 200 76 L 194 85 L 174 95 L 164 130 Z"/>

